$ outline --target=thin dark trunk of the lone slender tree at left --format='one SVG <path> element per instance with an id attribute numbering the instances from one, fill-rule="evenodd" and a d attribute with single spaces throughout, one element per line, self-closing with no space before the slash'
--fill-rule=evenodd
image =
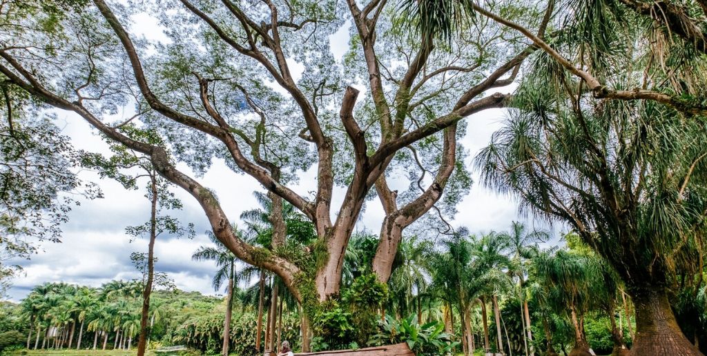
<path id="1" fill-rule="evenodd" d="M 137 343 L 137 356 L 144 356 L 147 349 L 147 319 L 150 313 L 150 295 L 152 293 L 152 280 L 155 274 L 155 239 L 157 239 L 157 178 L 150 173 L 150 189 L 152 193 L 150 210 L 150 242 L 147 249 L 147 280 L 142 293 L 142 314 L 140 316 L 140 338 Z"/>

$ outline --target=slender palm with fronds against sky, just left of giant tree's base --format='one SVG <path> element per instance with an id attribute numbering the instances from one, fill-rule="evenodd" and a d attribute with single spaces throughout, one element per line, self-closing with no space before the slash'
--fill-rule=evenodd
<path id="1" fill-rule="evenodd" d="M 238 234 L 238 228 L 233 225 L 231 227 L 233 232 Z M 230 317 L 233 309 L 233 287 L 236 283 L 235 276 L 235 255 L 231 252 L 226 245 L 216 238 L 213 232 L 206 232 L 206 235 L 211 240 L 214 246 L 204 247 L 201 246 L 197 249 L 194 254 L 192 254 L 192 259 L 194 261 L 215 261 L 218 270 L 214 279 L 211 280 L 211 284 L 214 285 L 215 290 L 220 290 L 224 281 L 228 281 L 228 286 L 226 287 L 226 320 L 223 322 L 223 348 L 221 350 L 221 355 L 228 356 L 228 345 L 230 343 Z"/>

